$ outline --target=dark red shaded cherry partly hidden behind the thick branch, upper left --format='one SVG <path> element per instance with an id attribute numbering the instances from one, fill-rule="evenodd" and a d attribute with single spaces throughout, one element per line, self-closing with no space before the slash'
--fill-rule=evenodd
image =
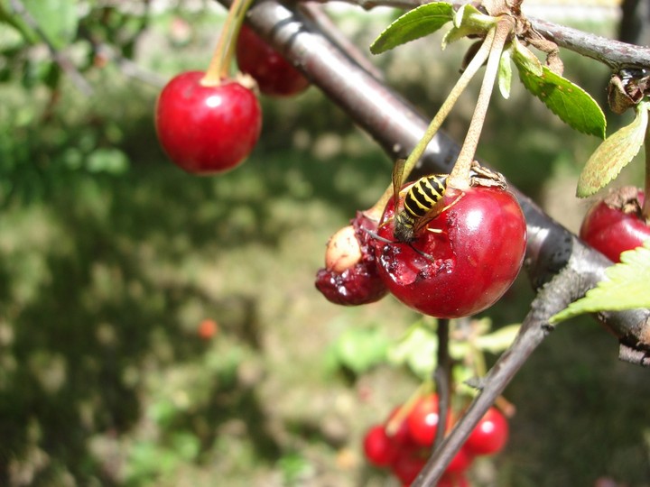
<path id="1" fill-rule="evenodd" d="M 310 85 L 298 69 L 246 25 L 237 38 L 237 65 L 255 78 L 265 95 L 297 95 Z"/>

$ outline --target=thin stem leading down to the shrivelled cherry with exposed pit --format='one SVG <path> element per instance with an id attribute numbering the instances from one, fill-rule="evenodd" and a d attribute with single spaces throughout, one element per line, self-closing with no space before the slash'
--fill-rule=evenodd
<path id="1" fill-rule="evenodd" d="M 474 55 L 474 58 L 469 62 L 467 68 L 463 71 L 462 75 L 456 85 L 451 88 L 449 95 L 445 98 L 445 101 L 442 103 L 438 113 L 433 117 L 431 123 L 427 127 L 426 131 L 422 135 L 422 139 L 415 145 L 413 151 L 409 154 L 406 162 L 404 163 L 404 180 L 408 178 L 409 174 L 415 167 L 417 161 L 420 160 L 422 154 L 426 151 L 427 145 L 432 141 L 435 134 L 440 130 L 442 123 L 445 121 L 448 115 L 450 115 L 451 108 L 456 105 L 460 95 L 465 91 L 465 88 L 468 87 L 469 81 L 474 78 L 474 75 L 478 73 L 478 69 L 483 66 L 483 63 L 487 60 L 490 48 L 492 47 L 493 40 L 495 37 L 495 29 L 490 29 L 487 32 L 486 38 L 481 44 L 481 47 L 478 49 L 477 53 Z M 401 181 L 404 182 L 404 181 Z M 367 210 L 367 214 L 376 215 L 377 213 L 381 215 L 384 212 L 385 204 L 393 198 L 393 185 L 389 185 L 386 188 L 384 194 L 381 198 L 377 200 L 375 205 Z"/>

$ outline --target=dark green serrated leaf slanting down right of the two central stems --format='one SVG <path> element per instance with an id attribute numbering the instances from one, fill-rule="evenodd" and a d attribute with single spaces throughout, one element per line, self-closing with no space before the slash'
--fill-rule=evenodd
<path id="1" fill-rule="evenodd" d="M 545 66 L 542 67 L 542 76 L 528 69 L 528 65 L 515 62 L 515 66 L 526 89 L 564 123 L 581 133 L 605 138 L 605 114 L 589 93 Z"/>

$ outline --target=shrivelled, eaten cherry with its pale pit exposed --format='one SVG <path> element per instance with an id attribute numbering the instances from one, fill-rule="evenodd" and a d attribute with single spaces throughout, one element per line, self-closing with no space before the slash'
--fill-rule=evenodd
<path id="1" fill-rule="evenodd" d="M 388 289 L 377 273 L 372 237 L 365 230 L 376 231 L 376 222 L 359 212 L 351 223 L 330 239 L 327 267 L 316 274 L 316 288 L 333 303 L 358 306 L 384 298 Z"/>

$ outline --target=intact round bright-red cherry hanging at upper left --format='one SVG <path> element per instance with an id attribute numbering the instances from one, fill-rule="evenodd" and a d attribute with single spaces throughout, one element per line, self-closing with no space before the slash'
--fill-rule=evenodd
<path id="1" fill-rule="evenodd" d="M 250 89 L 231 79 L 203 86 L 200 71 L 182 73 L 158 96 L 155 128 L 164 152 L 181 169 L 209 175 L 236 167 L 253 150 L 262 112 Z"/>

